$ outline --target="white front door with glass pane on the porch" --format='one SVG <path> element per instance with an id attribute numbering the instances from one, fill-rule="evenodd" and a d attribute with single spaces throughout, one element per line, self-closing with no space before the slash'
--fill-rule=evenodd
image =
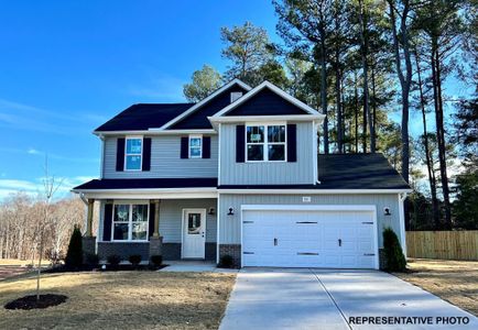
<path id="1" fill-rule="evenodd" d="M 183 257 L 204 258 L 206 252 L 206 209 L 183 210 Z"/>

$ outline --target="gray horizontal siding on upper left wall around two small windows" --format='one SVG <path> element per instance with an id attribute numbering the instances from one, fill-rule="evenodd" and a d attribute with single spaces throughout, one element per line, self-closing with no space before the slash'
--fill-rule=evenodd
<path id="1" fill-rule="evenodd" d="M 151 170 L 116 170 L 118 138 L 105 138 L 104 178 L 217 177 L 217 135 L 210 135 L 210 158 L 181 158 L 181 135 L 151 138 Z"/>

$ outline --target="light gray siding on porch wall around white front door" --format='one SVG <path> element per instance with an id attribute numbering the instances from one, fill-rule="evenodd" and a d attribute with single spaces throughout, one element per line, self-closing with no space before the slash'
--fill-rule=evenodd
<path id="1" fill-rule="evenodd" d="M 105 200 L 100 202 L 100 221 L 98 223 L 98 241 L 102 241 L 105 222 Z M 208 211 L 214 208 L 214 215 Z M 163 199 L 160 204 L 160 235 L 164 243 L 181 243 L 183 209 L 206 209 L 206 243 L 217 240 L 216 220 L 217 199 Z M 151 233 L 150 233 L 151 235 Z"/>

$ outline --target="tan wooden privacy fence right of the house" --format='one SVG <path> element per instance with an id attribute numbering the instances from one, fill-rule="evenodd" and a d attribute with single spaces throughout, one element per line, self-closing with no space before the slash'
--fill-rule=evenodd
<path id="1" fill-rule="evenodd" d="M 478 261 L 478 230 L 408 231 L 410 257 Z"/>

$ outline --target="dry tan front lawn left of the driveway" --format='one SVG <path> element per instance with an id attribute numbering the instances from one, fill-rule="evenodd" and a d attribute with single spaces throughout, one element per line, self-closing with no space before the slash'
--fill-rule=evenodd
<path id="1" fill-rule="evenodd" d="M 42 294 L 68 297 L 55 307 L 0 309 L 0 329 L 217 329 L 236 275 L 91 272 L 45 274 Z M 0 304 L 33 294 L 34 276 L 0 282 Z"/>

